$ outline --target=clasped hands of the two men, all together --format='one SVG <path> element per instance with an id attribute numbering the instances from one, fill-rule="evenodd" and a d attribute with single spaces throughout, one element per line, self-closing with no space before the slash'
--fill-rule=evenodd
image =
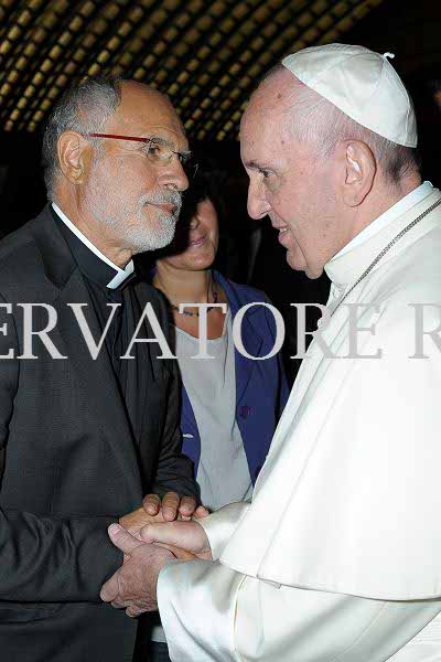
<path id="1" fill-rule="evenodd" d="M 123 553 L 121 567 L 106 581 L 100 598 L 125 608 L 130 617 L 154 611 L 159 573 L 170 560 L 211 560 L 212 552 L 197 520 L 208 511 L 193 496 L 168 492 L 148 494 L 142 506 L 109 526 L 109 536 Z"/>

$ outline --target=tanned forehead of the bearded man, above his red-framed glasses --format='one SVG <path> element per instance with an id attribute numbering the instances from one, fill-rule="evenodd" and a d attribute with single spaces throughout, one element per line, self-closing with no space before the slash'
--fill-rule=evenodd
<path id="1" fill-rule="evenodd" d="M 180 149 L 187 148 L 184 127 L 170 99 L 140 83 L 121 84 L 121 103 L 106 129 L 140 137 L 153 132 L 171 139 Z"/>

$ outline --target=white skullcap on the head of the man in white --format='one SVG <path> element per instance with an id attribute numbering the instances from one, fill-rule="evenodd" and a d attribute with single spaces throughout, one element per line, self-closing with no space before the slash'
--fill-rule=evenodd
<path id="1" fill-rule="evenodd" d="M 329 44 L 288 55 L 282 65 L 363 127 L 398 145 L 417 147 L 413 104 L 387 57 L 394 55 Z"/>

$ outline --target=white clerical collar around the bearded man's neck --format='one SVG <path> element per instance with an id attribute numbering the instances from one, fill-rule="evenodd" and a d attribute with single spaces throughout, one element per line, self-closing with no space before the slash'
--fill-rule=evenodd
<path id="1" fill-rule="evenodd" d="M 115 290 L 133 274 L 133 260 L 131 259 L 125 269 L 115 265 L 69 221 L 55 202 L 52 209 L 56 218 L 63 221 L 60 228 L 74 254 L 80 270 L 94 282 L 101 287 Z"/>

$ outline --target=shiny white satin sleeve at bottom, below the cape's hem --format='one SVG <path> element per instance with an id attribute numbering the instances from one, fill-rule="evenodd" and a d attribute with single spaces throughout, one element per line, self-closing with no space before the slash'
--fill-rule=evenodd
<path id="1" fill-rule="evenodd" d="M 435 658 L 427 656 L 423 645 L 406 647 L 440 612 L 437 600 L 386 602 L 277 588 L 217 562 L 197 560 L 162 569 L 158 602 L 173 662 L 441 659 L 441 639 Z"/>

